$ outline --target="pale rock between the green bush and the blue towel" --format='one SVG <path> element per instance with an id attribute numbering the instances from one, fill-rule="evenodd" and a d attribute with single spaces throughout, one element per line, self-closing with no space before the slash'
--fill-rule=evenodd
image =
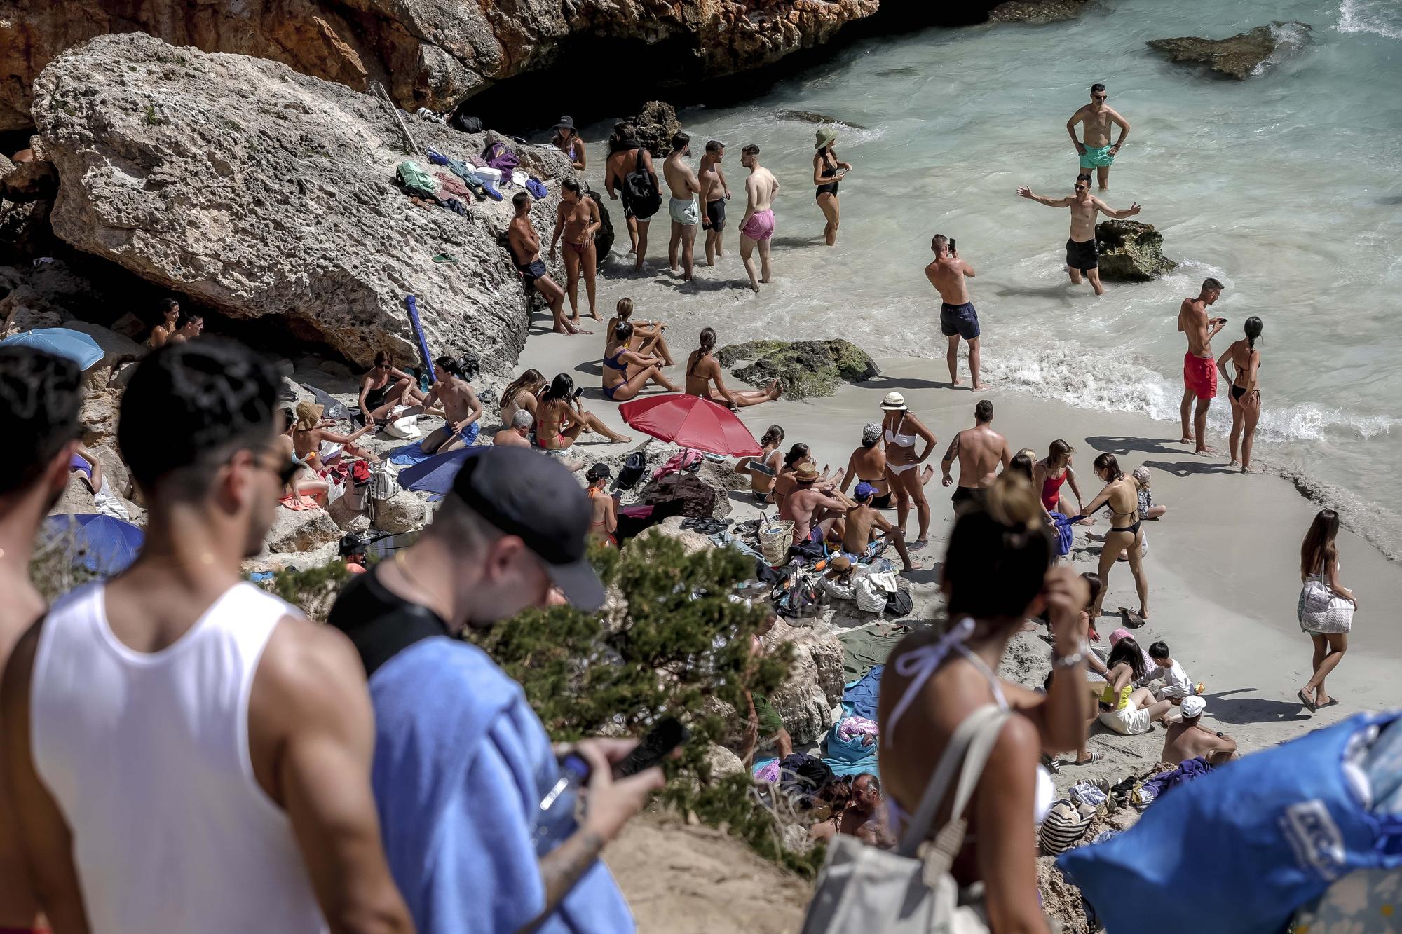
<path id="1" fill-rule="evenodd" d="M 774 624 L 765 647 L 794 645 L 794 663 L 770 704 L 784 718 L 796 745 L 816 743 L 833 725 L 833 707 L 843 700 L 843 641 L 830 625 L 813 628 Z"/>

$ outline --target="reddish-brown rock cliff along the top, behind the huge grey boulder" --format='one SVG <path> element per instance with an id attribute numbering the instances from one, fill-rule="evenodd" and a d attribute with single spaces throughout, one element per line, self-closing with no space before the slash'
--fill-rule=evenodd
<path id="1" fill-rule="evenodd" d="M 282 62 L 355 90 L 380 80 L 405 109 L 443 111 L 501 79 L 607 38 L 667 60 L 677 84 L 829 41 L 879 0 L 0 0 L 0 130 L 29 125 L 35 76 L 84 39 L 144 32 Z M 648 81 L 663 73 L 652 70 Z"/>

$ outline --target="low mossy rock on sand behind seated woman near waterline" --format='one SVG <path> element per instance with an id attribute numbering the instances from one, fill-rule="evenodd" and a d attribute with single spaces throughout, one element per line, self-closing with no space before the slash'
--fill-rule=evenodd
<path id="1" fill-rule="evenodd" d="M 843 381 L 861 383 L 880 374 L 876 363 L 851 341 L 750 341 L 721 348 L 721 366 L 754 363 L 735 374 L 750 386 L 784 383 L 784 398 L 831 395 Z"/>

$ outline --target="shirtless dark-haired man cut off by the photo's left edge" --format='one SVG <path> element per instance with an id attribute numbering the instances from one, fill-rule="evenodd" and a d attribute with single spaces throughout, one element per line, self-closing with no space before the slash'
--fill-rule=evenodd
<path id="1" fill-rule="evenodd" d="M 72 360 L 0 348 L 0 438 L 7 446 L 0 459 L 0 672 L 14 644 L 43 614 L 43 597 L 29 583 L 29 557 L 77 452 L 80 379 Z M 0 931 L 38 931 L 46 924 L 6 801 L 3 763 L 0 745 Z"/>

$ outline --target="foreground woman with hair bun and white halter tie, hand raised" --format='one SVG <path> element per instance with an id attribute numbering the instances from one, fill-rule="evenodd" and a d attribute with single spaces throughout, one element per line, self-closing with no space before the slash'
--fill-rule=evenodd
<path id="1" fill-rule="evenodd" d="M 1043 752 L 1075 749 L 1092 715 L 1081 618 L 1089 595 L 1074 569 L 1052 567 L 1054 555 L 1032 484 L 1004 473 L 986 502 L 960 515 L 951 533 L 941 572 L 948 631 L 906 638 L 880 683 L 880 777 L 896 839 L 956 731 L 966 721 L 997 731 L 967 809 L 951 815 L 946 795 L 930 823 L 932 837 L 952 818 L 967 820 L 951 874 L 960 889 L 983 882 L 994 931 L 1049 930 L 1037 900 L 1036 834 L 1028 833 L 1028 820 L 1040 822 L 1056 792 L 1037 760 Z M 994 672 L 1022 623 L 1043 610 L 1052 621 L 1056 677 L 1039 694 Z"/>

